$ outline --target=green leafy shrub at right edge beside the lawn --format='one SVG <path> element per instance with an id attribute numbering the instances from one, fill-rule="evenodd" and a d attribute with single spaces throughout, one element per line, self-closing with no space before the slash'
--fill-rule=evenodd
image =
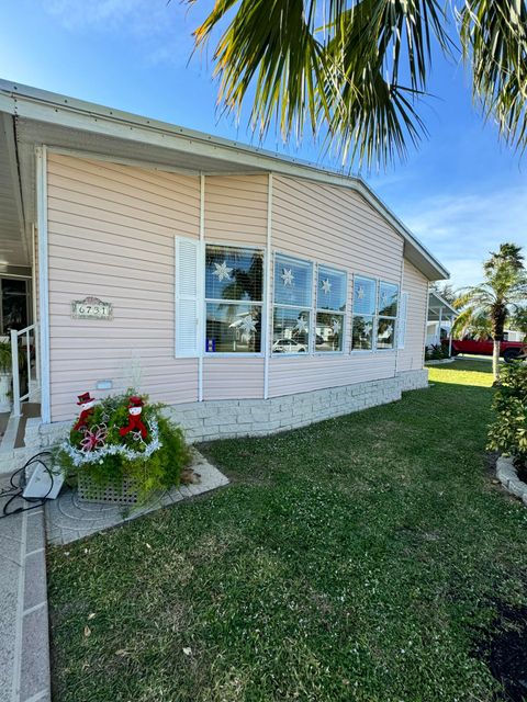
<path id="1" fill-rule="evenodd" d="M 513 361 L 502 369 L 493 408 L 497 418 L 489 430 L 489 449 L 527 465 L 527 364 Z"/>

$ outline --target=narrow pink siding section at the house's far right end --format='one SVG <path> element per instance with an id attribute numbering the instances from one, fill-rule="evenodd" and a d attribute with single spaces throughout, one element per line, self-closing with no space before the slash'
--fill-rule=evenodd
<path id="1" fill-rule="evenodd" d="M 428 281 L 406 259 L 404 260 L 403 290 L 410 293 L 408 314 L 404 349 L 399 351 L 397 371 L 415 371 L 423 367 Z"/>

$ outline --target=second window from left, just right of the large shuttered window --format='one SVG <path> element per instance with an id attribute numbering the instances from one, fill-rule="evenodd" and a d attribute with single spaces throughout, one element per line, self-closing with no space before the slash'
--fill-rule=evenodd
<path id="1" fill-rule="evenodd" d="M 313 265 L 285 256 L 274 257 L 272 352 L 310 351 Z"/>

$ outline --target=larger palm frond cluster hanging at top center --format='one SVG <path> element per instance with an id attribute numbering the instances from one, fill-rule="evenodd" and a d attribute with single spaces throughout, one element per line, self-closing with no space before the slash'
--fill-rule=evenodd
<path id="1" fill-rule="evenodd" d="M 426 134 L 416 105 L 431 45 L 450 47 L 437 0 L 216 0 L 197 47 L 233 11 L 214 52 L 218 100 L 239 114 L 251 94 L 261 136 L 274 121 L 284 139 L 326 125 L 343 159 L 371 165 L 404 157 Z"/>

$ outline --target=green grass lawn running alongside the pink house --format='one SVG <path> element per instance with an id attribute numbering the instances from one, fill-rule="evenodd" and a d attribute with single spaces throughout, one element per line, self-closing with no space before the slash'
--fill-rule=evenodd
<path id="1" fill-rule="evenodd" d="M 52 548 L 54 701 L 522 700 L 491 671 L 526 626 L 527 510 L 492 483 L 490 364 L 430 381 L 203 445 L 229 487 Z"/>

